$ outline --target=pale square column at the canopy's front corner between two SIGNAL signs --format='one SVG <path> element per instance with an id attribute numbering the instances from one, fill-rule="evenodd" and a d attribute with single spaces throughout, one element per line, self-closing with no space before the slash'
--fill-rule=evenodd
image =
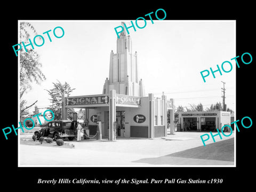
<path id="1" fill-rule="evenodd" d="M 116 121 L 116 90 L 109 91 L 109 137 L 108 140 L 115 141 L 114 129 Z"/>

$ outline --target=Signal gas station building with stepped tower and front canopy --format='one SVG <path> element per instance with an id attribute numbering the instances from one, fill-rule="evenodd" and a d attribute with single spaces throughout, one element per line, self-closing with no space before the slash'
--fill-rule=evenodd
<path id="1" fill-rule="evenodd" d="M 137 52 L 132 53 L 131 37 L 125 31 L 117 38 L 117 53 L 111 51 L 109 77 L 102 94 L 67 97 L 62 95 L 62 119 L 68 108 L 84 108 L 90 135 L 96 133 L 101 122 L 103 137 L 158 138 L 167 136 L 167 110 L 170 110 L 170 129 L 174 127 L 173 99 L 166 95 L 155 98 L 145 95 L 138 76 Z"/>

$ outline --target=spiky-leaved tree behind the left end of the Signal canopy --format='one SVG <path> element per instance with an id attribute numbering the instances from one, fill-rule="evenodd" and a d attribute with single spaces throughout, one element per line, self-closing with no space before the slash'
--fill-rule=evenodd
<path id="1" fill-rule="evenodd" d="M 59 81 L 57 83 L 53 83 L 53 89 L 46 90 L 51 97 L 51 99 L 49 99 L 51 101 L 51 105 L 47 109 L 50 109 L 53 111 L 54 120 L 61 119 L 61 107 L 62 107 L 61 94 L 66 93 L 69 96 L 73 90 L 75 89 L 71 89 L 70 85 L 67 82 L 65 82 L 65 84 L 61 84 Z M 71 108 L 68 108 L 68 118 L 71 120 L 73 119 L 73 113 L 74 113 L 74 110 Z"/>

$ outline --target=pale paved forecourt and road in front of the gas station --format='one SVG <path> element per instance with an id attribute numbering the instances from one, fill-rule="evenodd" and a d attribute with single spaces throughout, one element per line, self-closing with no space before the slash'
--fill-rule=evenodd
<path id="1" fill-rule="evenodd" d="M 200 139 L 202 134 L 176 132 L 158 139 L 66 141 L 73 143 L 74 149 L 20 145 L 20 166 L 234 165 L 234 134 L 222 140 L 215 137 L 217 142 L 209 140 L 205 147 Z M 227 143 L 223 141 L 229 146 L 225 150 Z M 223 153 L 226 158 L 222 158 Z"/>

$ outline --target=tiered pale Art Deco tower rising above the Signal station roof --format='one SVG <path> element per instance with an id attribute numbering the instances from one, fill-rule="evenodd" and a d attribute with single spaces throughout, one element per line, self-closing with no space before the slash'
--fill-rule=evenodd
<path id="1" fill-rule="evenodd" d="M 122 22 L 124 28 L 124 22 Z M 117 94 L 144 97 L 142 79 L 139 81 L 137 52 L 132 53 L 132 39 L 126 36 L 125 28 L 117 38 L 117 53 L 110 53 L 109 78 L 103 86 L 103 94 L 116 90 Z"/>

